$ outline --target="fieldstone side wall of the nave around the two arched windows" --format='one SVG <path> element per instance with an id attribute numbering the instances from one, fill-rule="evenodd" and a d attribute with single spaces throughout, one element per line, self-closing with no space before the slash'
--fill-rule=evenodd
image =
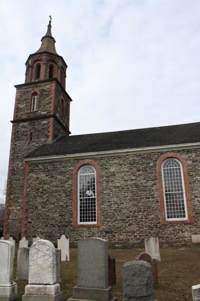
<path id="1" fill-rule="evenodd" d="M 40 236 L 56 243 L 64 233 L 72 245 L 83 237 L 104 238 L 111 245 L 124 246 L 144 246 L 147 237 L 159 238 L 160 246 L 192 244 L 192 234 L 200 232 L 200 151 L 178 151 L 188 163 L 192 224 L 160 223 L 156 163 L 163 153 L 90 157 L 100 168 L 99 227 L 73 227 L 72 173 L 85 158 L 28 162 L 26 237 Z"/>

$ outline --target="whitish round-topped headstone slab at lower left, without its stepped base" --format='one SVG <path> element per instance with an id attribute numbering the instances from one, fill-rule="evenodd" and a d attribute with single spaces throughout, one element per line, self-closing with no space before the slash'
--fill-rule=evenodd
<path id="1" fill-rule="evenodd" d="M 56 249 L 49 240 L 36 240 L 29 252 L 28 284 L 56 283 Z"/>

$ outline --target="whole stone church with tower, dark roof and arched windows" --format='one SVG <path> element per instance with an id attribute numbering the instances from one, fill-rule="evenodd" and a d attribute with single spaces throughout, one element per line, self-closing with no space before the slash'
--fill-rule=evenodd
<path id="1" fill-rule="evenodd" d="M 200 233 L 200 123 L 71 135 L 51 21 L 16 100 L 3 233 L 56 243 L 191 245 Z"/>

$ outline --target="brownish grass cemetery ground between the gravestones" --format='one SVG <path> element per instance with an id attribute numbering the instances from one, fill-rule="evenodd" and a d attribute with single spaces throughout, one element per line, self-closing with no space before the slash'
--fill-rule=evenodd
<path id="1" fill-rule="evenodd" d="M 15 248 L 15 269 L 17 268 L 17 248 Z M 133 261 L 144 249 L 109 249 L 111 258 L 116 260 L 117 284 L 113 286 L 113 295 L 118 301 L 123 300 L 122 266 Z M 155 298 L 158 301 L 192 301 L 192 285 L 200 284 L 200 248 L 191 249 L 160 249 L 161 263 L 158 263 L 158 287 Z M 88 271 L 90 272 L 90 271 Z M 70 261 L 62 262 L 63 301 L 72 297 L 72 288 L 76 285 L 77 249 L 70 249 Z M 24 288 L 28 281 L 16 280 L 19 301 L 22 300 Z"/>

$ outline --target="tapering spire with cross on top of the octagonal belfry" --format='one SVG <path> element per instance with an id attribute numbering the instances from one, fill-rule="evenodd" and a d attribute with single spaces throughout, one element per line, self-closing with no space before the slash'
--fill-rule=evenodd
<path id="1" fill-rule="evenodd" d="M 57 54 L 56 52 L 56 47 L 55 47 L 55 43 L 56 40 L 53 38 L 52 34 L 51 34 L 51 15 L 49 16 L 50 20 L 49 20 L 49 24 L 47 27 L 47 33 L 45 36 L 42 37 L 42 43 L 40 46 L 40 49 L 38 49 L 38 52 L 51 52 L 52 54 Z"/>

